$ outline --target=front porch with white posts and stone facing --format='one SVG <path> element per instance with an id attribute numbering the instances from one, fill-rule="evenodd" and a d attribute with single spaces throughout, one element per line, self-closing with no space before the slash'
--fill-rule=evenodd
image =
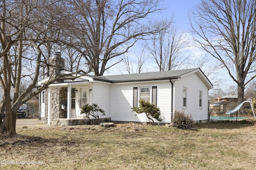
<path id="1" fill-rule="evenodd" d="M 90 102 L 91 83 L 58 82 L 48 86 L 45 110 L 50 126 L 84 125 L 89 119 L 80 114 L 80 107 Z"/>

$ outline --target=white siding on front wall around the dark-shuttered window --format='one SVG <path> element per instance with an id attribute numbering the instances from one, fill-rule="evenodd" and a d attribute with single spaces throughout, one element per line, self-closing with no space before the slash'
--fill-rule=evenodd
<path id="1" fill-rule="evenodd" d="M 134 102 L 133 87 L 157 86 L 157 106 L 160 108 L 163 123 L 171 122 L 171 83 L 170 81 L 112 84 L 110 95 L 110 113 L 113 121 L 138 121 L 148 122 L 144 113 L 132 112 Z M 139 90 L 139 88 L 138 88 Z M 151 92 L 150 92 L 151 94 Z M 155 122 L 158 122 L 154 120 Z"/>

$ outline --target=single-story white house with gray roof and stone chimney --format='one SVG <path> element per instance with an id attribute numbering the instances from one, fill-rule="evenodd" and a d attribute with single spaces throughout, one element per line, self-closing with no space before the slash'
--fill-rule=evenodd
<path id="1" fill-rule="evenodd" d="M 51 62 L 56 64 L 56 69 L 50 69 L 50 75 L 70 74 L 62 70 L 64 61 L 60 56 L 51 58 Z M 38 81 L 38 85 L 49 79 Z M 163 123 L 172 121 L 175 110 L 191 114 L 194 121 L 205 121 L 208 120 L 209 89 L 212 84 L 200 68 L 114 76 L 85 75 L 74 81 L 50 84 L 42 91 L 40 117 L 48 120 L 49 125 L 53 119 L 85 119 L 80 115 L 80 107 L 96 103 L 105 111 L 100 118 L 148 122 L 145 114 L 135 116 L 132 112 L 132 107 L 137 107 L 138 101 L 144 99 L 160 108 Z"/>

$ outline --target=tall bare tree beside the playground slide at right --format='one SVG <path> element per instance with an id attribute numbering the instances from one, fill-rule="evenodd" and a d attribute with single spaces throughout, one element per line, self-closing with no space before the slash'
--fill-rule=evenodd
<path id="1" fill-rule="evenodd" d="M 228 70 L 242 102 L 256 77 L 256 1 L 201 0 L 192 17 L 194 40 Z"/>

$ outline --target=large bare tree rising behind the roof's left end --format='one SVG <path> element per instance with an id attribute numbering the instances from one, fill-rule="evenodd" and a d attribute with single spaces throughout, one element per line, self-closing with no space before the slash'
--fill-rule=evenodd
<path id="1" fill-rule="evenodd" d="M 72 45 L 86 59 L 96 76 L 112 65 L 108 61 L 128 52 L 145 36 L 165 28 L 154 25 L 148 17 L 160 12 L 161 0 L 72 0 L 70 11 L 76 17 L 70 23 Z"/>

